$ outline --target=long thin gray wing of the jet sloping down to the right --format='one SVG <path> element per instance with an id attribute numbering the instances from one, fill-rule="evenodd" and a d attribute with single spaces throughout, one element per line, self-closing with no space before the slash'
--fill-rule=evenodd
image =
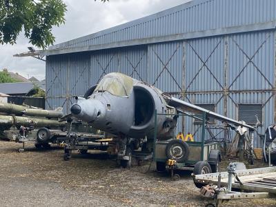
<path id="1" fill-rule="evenodd" d="M 214 119 L 217 119 L 219 121 L 226 122 L 228 124 L 233 124 L 235 126 L 243 126 L 250 130 L 255 130 L 255 127 L 250 126 L 248 124 L 244 124 L 242 121 L 237 121 L 235 119 L 230 119 L 228 117 L 224 117 L 222 115 L 219 115 L 213 111 L 206 110 L 205 108 L 201 108 L 199 106 L 196 106 L 195 104 L 188 103 L 186 101 L 183 101 L 181 99 L 177 99 L 175 97 L 172 97 L 167 94 L 162 94 L 164 99 L 167 101 L 169 106 L 175 107 L 176 110 L 185 111 L 185 112 L 193 112 L 195 114 L 201 114 L 202 112 L 206 112 L 206 117 L 213 117 Z"/>

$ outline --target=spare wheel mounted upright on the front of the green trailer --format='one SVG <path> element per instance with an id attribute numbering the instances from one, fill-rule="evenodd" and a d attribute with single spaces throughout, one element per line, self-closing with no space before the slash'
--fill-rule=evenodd
<path id="1" fill-rule="evenodd" d="M 168 159 L 175 159 L 177 162 L 184 162 L 188 159 L 189 147 L 181 139 L 172 139 L 166 146 L 166 156 Z"/>

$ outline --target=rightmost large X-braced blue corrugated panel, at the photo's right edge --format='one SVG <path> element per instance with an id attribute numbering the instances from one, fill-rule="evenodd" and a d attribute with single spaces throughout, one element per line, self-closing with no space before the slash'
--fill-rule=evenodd
<path id="1" fill-rule="evenodd" d="M 230 90 L 273 87 L 274 32 L 235 34 L 229 38 Z"/>

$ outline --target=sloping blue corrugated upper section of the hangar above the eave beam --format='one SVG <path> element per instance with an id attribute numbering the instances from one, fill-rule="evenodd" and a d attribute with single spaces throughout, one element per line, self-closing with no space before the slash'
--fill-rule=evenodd
<path id="1" fill-rule="evenodd" d="M 268 23 L 276 19 L 275 7 L 274 0 L 194 0 L 121 26 L 52 46 L 50 49 L 95 46 Z M 202 34 L 202 37 L 204 35 L 206 34 Z"/>

